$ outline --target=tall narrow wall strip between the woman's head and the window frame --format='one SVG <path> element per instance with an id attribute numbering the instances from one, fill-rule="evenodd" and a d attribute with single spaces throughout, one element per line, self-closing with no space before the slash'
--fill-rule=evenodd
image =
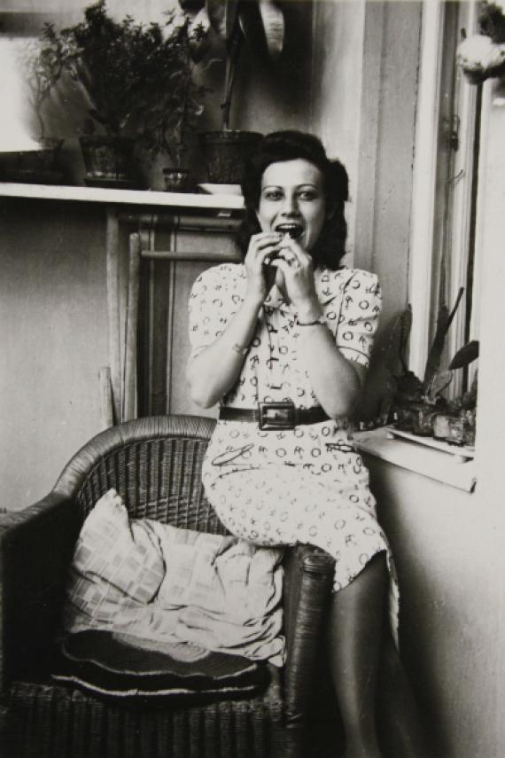
<path id="1" fill-rule="evenodd" d="M 363 416 L 375 417 L 385 394 L 385 351 L 392 322 L 408 301 L 412 166 L 422 6 L 370 2 L 361 98 L 356 263 L 375 271 L 383 311 L 370 364 Z M 375 84 L 378 69 L 378 86 Z M 375 88 L 375 89 L 374 89 Z M 376 139 L 376 146 L 373 146 Z"/>

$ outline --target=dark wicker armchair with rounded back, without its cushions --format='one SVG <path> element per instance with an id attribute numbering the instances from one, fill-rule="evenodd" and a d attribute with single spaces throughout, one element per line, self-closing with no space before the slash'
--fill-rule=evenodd
<path id="1" fill-rule="evenodd" d="M 307 545 L 284 558 L 284 669 L 266 692 L 207 704 L 129 707 L 51 680 L 66 574 L 82 522 L 109 488 L 130 516 L 226 534 L 201 487 L 214 420 L 129 421 L 98 434 L 51 494 L 0 517 L 0 734 L 5 758 L 306 756 L 307 709 L 333 561 Z M 263 664 L 268 665 L 268 664 Z M 2 747 L 2 746 L 0 746 Z"/>

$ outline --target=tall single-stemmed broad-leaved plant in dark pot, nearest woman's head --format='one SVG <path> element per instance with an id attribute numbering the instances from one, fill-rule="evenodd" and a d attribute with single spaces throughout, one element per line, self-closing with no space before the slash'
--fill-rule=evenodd
<path id="1" fill-rule="evenodd" d="M 193 41 L 197 59 L 213 53 L 209 38 L 221 42 L 225 71 L 221 98 L 221 130 L 200 135 L 209 181 L 216 184 L 239 184 L 245 159 L 261 135 L 258 132 L 230 128 L 230 112 L 237 66 L 245 39 L 257 54 L 272 59 L 284 49 L 284 14 L 274 0 L 179 0 L 198 33 Z"/>

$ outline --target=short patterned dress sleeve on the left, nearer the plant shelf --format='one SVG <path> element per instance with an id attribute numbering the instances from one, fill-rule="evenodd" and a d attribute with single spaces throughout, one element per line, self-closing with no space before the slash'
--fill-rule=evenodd
<path id="1" fill-rule="evenodd" d="M 217 340 L 242 303 L 242 277 L 238 268 L 221 264 L 195 279 L 189 301 L 191 356 L 197 356 Z"/>

